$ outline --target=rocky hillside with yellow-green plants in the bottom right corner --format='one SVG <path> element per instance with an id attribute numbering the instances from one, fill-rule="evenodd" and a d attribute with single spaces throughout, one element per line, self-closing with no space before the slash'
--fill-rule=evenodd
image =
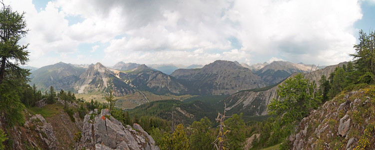
<path id="1" fill-rule="evenodd" d="M 374 149 L 375 86 L 355 85 L 303 118 L 292 149 Z"/>

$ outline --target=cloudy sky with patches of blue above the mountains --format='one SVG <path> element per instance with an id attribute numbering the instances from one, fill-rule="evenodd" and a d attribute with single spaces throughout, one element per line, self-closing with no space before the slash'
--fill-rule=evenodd
<path id="1" fill-rule="evenodd" d="M 25 12 L 28 65 L 348 61 L 375 0 L 4 0 Z"/>

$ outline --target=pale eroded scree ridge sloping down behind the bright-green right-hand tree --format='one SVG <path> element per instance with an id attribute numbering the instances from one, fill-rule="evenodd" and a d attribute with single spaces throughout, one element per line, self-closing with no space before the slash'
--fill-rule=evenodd
<path id="1" fill-rule="evenodd" d="M 343 66 L 343 64 L 347 63 L 348 62 L 342 62 L 336 65 L 330 65 L 323 69 L 312 71 L 311 73 L 303 73 L 303 75 L 305 75 L 305 78 L 315 80 L 318 84 L 317 86 L 319 86 L 319 79 L 322 75 L 329 76 L 329 74 L 333 72 L 337 66 Z M 293 73 L 289 77 L 296 74 L 298 73 Z M 272 98 L 276 98 L 276 91 L 278 89 L 277 85 L 283 81 L 284 80 L 264 88 L 239 91 L 219 101 L 219 103 L 227 103 L 226 110 L 229 114 L 242 112 L 244 115 L 266 115 L 266 105 L 269 104 Z"/>

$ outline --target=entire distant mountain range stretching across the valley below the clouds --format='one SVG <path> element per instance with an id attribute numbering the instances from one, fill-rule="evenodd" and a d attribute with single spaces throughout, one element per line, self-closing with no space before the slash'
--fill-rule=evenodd
<path id="1" fill-rule="evenodd" d="M 264 63 L 266 64 L 266 63 Z M 155 66 L 155 65 L 154 65 Z M 31 72 L 31 84 L 45 90 L 53 86 L 77 93 L 108 92 L 116 96 L 135 90 L 156 94 L 230 95 L 279 82 L 293 72 L 308 72 L 311 65 L 274 61 L 253 72 L 237 61 L 216 60 L 202 68 L 180 68 L 170 75 L 145 64 L 118 62 L 106 67 L 96 64 L 58 62 Z"/>

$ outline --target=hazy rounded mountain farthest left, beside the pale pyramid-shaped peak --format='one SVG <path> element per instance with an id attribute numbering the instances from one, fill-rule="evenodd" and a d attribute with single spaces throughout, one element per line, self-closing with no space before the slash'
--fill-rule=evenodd
<path id="1" fill-rule="evenodd" d="M 31 78 L 30 84 L 35 84 L 38 89 L 42 90 L 52 85 L 55 90 L 65 89 L 73 91 L 73 84 L 84 71 L 84 68 L 58 62 L 32 71 L 29 76 Z"/>

